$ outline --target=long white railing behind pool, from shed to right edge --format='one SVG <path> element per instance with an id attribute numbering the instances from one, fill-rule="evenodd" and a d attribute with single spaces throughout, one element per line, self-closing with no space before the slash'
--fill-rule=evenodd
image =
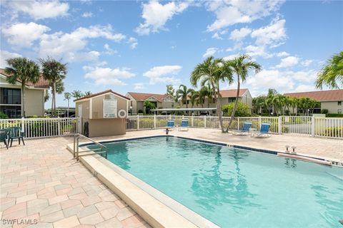
<path id="1" fill-rule="evenodd" d="M 219 129 L 217 116 L 131 115 L 126 119 L 126 130 L 165 128 L 169 119 L 173 119 L 175 125 L 179 125 L 182 118 L 189 119 L 190 128 Z M 224 128 L 229 125 L 229 120 L 229 117 L 223 117 Z M 252 128 L 257 130 L 260 129 L 261 123 L 270 123 L 270 132 L 274 134 L 343 138 L 343 118 L 315 118 L 310 116 L 238 117 L 232 120 L 231 129 L 241 130 L 244 122 L 251 122 Z"/>

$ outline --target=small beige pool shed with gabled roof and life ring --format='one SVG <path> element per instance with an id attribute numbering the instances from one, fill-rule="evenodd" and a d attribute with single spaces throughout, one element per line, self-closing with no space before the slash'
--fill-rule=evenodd
<path id="1" fill-rule="evenodd" d="M 76 116 L 81 118 L 81 133 L 88 137 L 124 135 L 129 100 L 112 90 L 74 100 Z"/>

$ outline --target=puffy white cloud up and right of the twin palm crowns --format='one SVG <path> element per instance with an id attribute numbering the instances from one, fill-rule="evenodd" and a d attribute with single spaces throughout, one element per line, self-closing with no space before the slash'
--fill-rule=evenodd
<path id="1" fill-rule="evenodd" d="M 286 20 L 275 19 L 268 26 L 257 28 L 252 31 L 252 38 L 256 38 L 257 45 L 276 47 L 281 45 L 287 38 L 284 24 Z"/>

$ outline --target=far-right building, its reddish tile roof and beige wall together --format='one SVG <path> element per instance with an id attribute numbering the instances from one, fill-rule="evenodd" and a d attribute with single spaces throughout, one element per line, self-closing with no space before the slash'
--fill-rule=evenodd
<path id="1" fill-rule="evenodd" d="M 329 113 L 342 113 L 343 90 L 323 90 L 302 93 L 284 93 L 294 98 L 312 98 L 320 102 L 320 108 L 329 110 Z"/>

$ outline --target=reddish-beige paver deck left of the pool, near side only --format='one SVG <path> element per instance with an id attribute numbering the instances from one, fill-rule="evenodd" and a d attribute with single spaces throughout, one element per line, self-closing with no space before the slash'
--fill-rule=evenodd
<path id="1" fill-rule="evenodd" d="M 66 150 L 71 141 L 46 138 L 1 147 L 0 227 L 11 227 L 9 221 L 33 224 L 13 227 L 149 227 L 73 159 Z"/>

